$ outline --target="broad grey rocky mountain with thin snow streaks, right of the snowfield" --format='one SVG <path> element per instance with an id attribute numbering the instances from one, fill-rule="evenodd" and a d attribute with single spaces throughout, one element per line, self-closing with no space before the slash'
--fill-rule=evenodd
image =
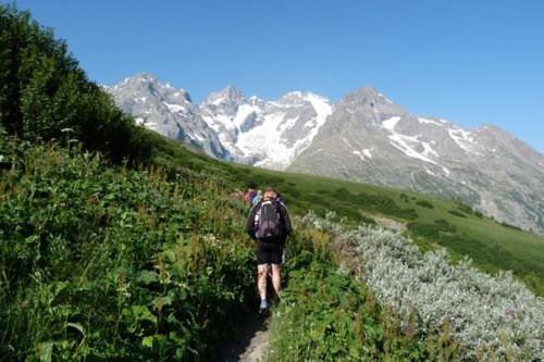
<path id="1" fill-rule="evenodd" d="M 342 99 L 288 170 L 460 196 L 544 233 L 544 155 L 494 126 L 412 115 L 373 88 Z"/>

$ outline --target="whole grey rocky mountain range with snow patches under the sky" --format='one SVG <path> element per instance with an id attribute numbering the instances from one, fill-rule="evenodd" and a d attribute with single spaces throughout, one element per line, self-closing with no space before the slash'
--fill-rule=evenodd
<path id="1" fill-rule="evenodd" d="M 147 74 L 107 89 L 136 122 L 219 159 L 460 196 L 544 234 L 544 155 L 494 126 L 417 116 L 371 87 L 334 107 L 311 92 L 269 101 L 232 86 L 194 104 Z"/>

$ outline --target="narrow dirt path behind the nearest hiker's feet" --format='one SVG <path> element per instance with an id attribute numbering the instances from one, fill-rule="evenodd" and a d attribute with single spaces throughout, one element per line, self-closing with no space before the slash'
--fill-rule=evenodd
<path id="1" fill-rule="evenodd" d="M 269 319 L 252 316 L 242 327 L 242 335 L 225 347 L 220 361 L 262 361 L 269 347 Z"/>

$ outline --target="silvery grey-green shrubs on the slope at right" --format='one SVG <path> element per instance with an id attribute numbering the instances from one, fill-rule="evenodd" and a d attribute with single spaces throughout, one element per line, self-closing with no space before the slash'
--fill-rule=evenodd
<path id="1" fill-rule="evenodd" d="M 398 313 L 405 326 L 424 334 L 447 327 L 461 342 L 463 359 L 544 358 L 544 302 L 510 273 L 491 277 L 468 259 L 452 265 L 443 249 L 422 253 L 390 230 L 350 230 L 313 215 L 306 222 L 331 233 L 331 244 L 355 251 L 360 279 Z"/>

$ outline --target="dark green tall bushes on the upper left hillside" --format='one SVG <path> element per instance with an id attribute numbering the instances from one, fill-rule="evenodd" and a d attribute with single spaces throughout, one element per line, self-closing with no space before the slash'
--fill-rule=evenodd
<path id="1" fill-rule="evenodd" d="M 0 122 L 9 134 L 50 140 L 70 129 L 114 161 L 151 155 L 143 129 L 87 79 L 66 43 L 13 5 L 0 4 Z"/>

